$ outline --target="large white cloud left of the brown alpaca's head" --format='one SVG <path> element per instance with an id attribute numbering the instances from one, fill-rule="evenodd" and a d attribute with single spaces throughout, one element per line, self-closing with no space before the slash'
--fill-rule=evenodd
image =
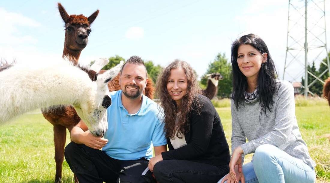
<path id="1" fill-rule="evenodd" d="M 17 63 L 56 62 L 61 59 L 61 54 L 43 53 L 34 46 L 38 39 L 32 35 L 26 34 L 25 30 L 29 28 L 40 27 L 41 24 L 36 20 L 26 17 L 22 14 L 8 12 L 0 8 L 0 17 L 5 17 L 0 29 L 0 59 Z"/>

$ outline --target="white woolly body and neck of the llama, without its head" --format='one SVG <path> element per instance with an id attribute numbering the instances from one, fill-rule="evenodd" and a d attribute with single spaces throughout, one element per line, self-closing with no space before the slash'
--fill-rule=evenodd
<path id="1" fill-rule="evenodd" d="M 79 104 L 96 91 L 88 75 L 69 63 L 16 65 L 0 72 L 0 83 L 0 124 L 36 108 Z"/>

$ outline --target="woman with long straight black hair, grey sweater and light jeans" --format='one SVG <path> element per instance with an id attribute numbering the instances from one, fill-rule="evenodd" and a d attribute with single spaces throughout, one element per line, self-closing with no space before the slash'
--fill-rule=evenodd
<path id="1" fill-rule="evenodd" d="M 297 125 L 293 86 L 276 79 L 265 42 L 242 36 L 232 45 L 231 62 L 232 157 L 219 183 L 314 182 L 315 163 Z M 252 161 L 242 167 L 250 153 Z"/>

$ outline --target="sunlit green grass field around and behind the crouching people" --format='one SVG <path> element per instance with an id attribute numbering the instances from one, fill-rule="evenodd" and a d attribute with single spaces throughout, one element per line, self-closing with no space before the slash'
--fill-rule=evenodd
<path id="1" fill-rule="evenodd" d="M 217 111 L 230 145 L 230 107 L 217 108 Z M 329 106 L 323 99 L 297 99 L 296 116 L 303 139 L 317 164 L 317 182 L 330 182 Z M 69 141 L 67 134 L 67 143 Z M 251 157 L 246 156 L 245 162 L 249 162 Z M 65 161 L 62 174 L 63 182 L 73 182 L 73 173 Z M 0 126 L 0 183 L 53 182 L 54 175 L 52 125 L 42 114 L 24 114 Z"/>

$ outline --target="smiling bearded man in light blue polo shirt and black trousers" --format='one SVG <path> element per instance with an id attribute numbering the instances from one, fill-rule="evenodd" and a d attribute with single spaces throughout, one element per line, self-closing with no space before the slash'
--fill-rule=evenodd
<path id="1" fill-rule="evenodd" d="M 89 133 L 83 121 L 71 130 L 73 142 L 64 155 L 80 183 L 148 182 L 141 173 L 148 167 L 152 146 L 155 155 L 166 151 L 166 138 L 157 104 L 142 94 L 147 81 L 142 59 L 132 56 L 120 72 L 121 90 L 110 93 L 104 137 Z"/>

